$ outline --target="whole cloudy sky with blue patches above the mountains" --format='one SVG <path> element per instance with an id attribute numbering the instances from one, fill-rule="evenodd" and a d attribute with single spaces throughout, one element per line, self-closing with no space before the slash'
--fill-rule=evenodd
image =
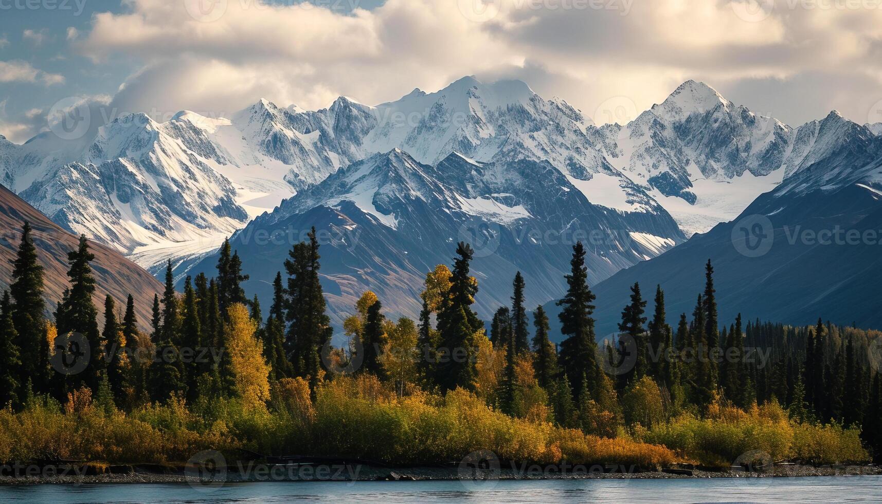
<path id="1" fill-rule="evenodd" d="M 686 79 L 792 125 L 882 122 L 882 0 L 0 0 L 0 134 L 16 142 L 71 97 L 228 116 L 465 75 L 522 79 L 597 123 Z"/>

